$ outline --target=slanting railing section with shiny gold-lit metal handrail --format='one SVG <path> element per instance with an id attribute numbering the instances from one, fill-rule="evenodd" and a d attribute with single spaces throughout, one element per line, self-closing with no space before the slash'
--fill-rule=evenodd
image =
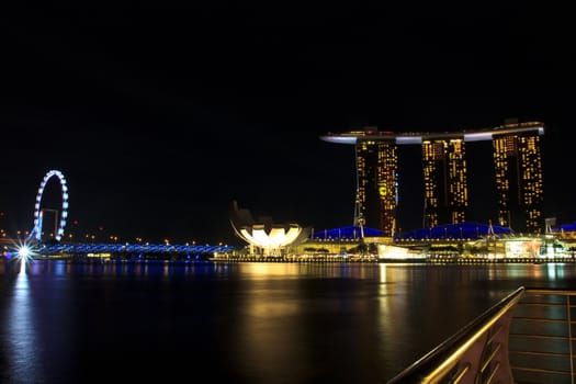
<path id="1" fill-rule="evenodd" d="M 523 293 L 520 286 L 387 384 L 438 383 L 448 376 L 451 383 L 488 383 L 496 375 L 511 383 L 508 329 L 512 309 Z"/>

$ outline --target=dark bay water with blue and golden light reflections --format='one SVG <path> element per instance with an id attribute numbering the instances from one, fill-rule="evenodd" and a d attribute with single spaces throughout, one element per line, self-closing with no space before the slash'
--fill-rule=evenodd
<path id="1" fill-rule="evenodd" d="M 2 383 L 172 382 L 208 368 L 234 383 L 385 382 L 518 286 L 576 286 L 573 264 L 37 261 L 18 272 L 0 261 Z"/>

